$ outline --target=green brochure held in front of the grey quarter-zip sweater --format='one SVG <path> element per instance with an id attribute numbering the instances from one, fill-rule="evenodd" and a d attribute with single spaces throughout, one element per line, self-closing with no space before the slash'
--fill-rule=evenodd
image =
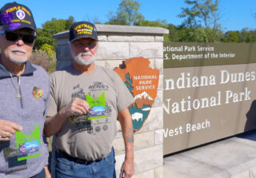
<path id="1" fill-rule="evenodd" d="M 20 131 L 16 131 L 16 145 L 19 152 L 18 161 L 41 156 L 41 153 L 38 153 L 40 145 L 39 125 L 30 135 L 26 135 Z"/>

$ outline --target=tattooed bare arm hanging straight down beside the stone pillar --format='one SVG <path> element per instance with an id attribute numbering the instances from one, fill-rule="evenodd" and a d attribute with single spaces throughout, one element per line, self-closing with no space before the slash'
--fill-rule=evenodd
<path id="1" fill-rule="evenodd" d="M 129 110 L 123 109 L 118 112 L 118 119 L 126 147 L 126 158 L 122 164 L 119 177 L 130 178 L 134 174 L 134 127 Z"/>

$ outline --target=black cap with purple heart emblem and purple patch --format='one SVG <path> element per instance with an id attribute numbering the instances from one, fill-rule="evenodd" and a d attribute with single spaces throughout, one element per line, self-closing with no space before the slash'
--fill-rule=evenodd
<path id="1" fill-rule="evenodd" d="M 2 6 L 0 10 L 0 26 L 3 26 L 5 31 L 29 28 L 37 32 L 30 9 L 17 2 L 10 2 Z"/>

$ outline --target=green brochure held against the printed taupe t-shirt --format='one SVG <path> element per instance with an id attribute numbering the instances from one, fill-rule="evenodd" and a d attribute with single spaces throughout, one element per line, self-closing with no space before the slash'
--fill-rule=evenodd
<path id="1" fill-rule="evenodd" d="M 103 92 L 98 99 L 90 97 L 86 94 L 86 101 L 90 105 L 88 120 L 106 118 L 106 101 L 105 93 Z"/>

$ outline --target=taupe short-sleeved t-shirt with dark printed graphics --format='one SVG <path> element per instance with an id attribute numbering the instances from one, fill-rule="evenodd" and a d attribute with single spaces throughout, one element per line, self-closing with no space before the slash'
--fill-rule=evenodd
<path id="1" fill-rule="evenodd" d="M 92 129 L 87 128 L 88 121 L 72 121 L 68 118 L 66 125 L 55 136 L 56 148 L 84 160 L 97 160 L 107 156 L 117 133 L 118 112 L 134 102 L 134 97 L 121 77 L 114 70 L 98 65 L 88 74 L 78 73 L 68 66 L 50 75 L 50 85 L 49 117 L 53 117 L 75 97 L 87 102 L 89 98 L 100 100 L 90 110 L 90 117 L 97 118 L 91 120 Z"/>

